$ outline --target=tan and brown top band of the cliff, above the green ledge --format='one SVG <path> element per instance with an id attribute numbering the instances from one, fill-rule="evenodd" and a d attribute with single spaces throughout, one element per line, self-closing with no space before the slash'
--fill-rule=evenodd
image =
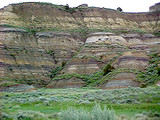
<path id="1" fill-rule="evenodd" d="M 141 29 L 160 27 L 160 13 L 121 13 L 103 8 L 71 8 L 43 3 L 9 5 L 0 11 L 0 24 L 28 28 Z"/>

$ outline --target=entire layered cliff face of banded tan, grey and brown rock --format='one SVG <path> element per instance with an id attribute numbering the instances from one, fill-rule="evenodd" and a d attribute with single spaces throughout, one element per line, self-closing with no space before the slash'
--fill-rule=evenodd
<path id="1" fill-rule="evenodd" d="M 137 72 L 149 66 L 148 54 L 160 51 L 160 38 L 144 33 L 160 29 L 159 12 L 23 3 L 0 10 L 0 25 L 0 84 L 139 86 Z M 115 33 L 100 32 L 108 30 Z M 111 75 L 103 73 L 106 65 Z"/>

